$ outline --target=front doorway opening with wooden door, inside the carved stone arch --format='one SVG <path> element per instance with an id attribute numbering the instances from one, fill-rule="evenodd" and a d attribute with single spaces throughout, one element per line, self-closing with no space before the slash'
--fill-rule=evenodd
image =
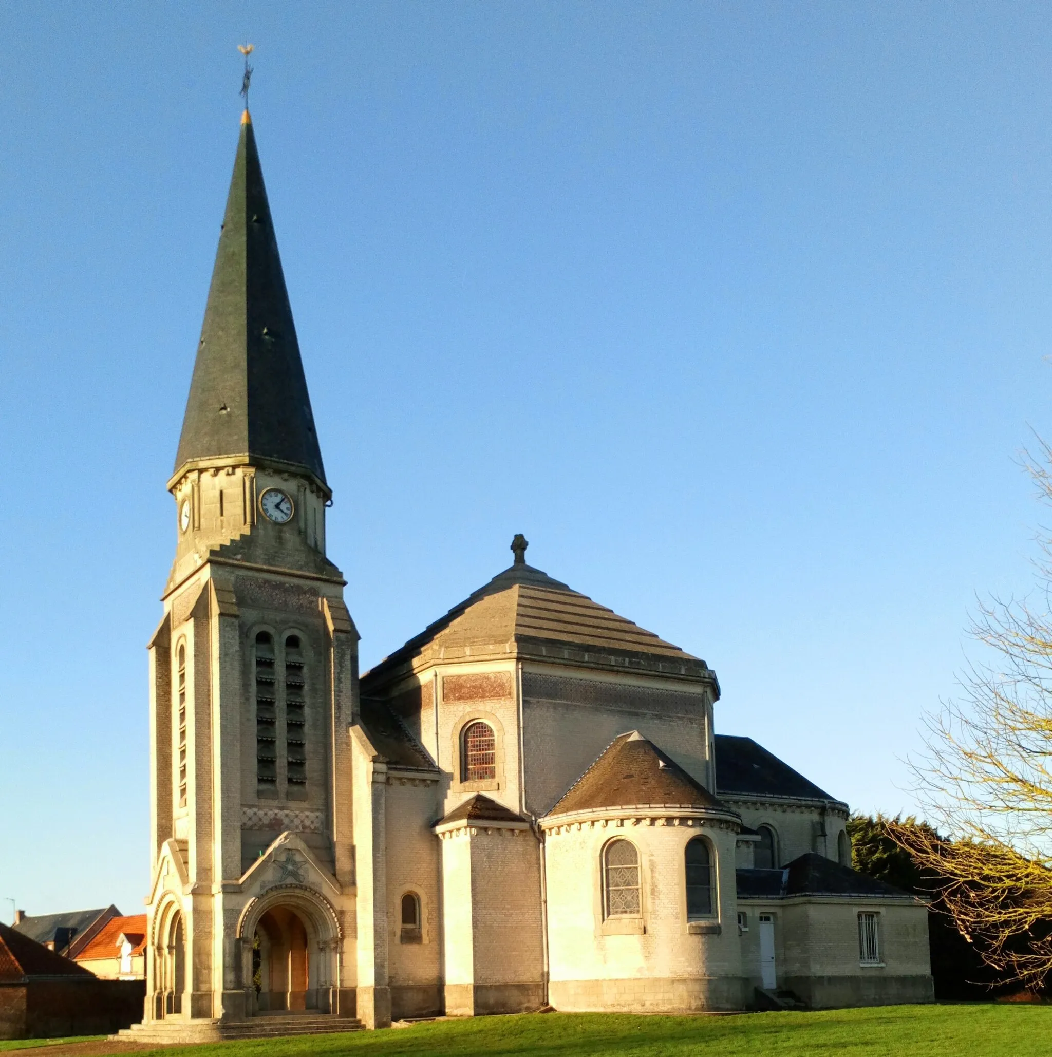
<path id="1" fill-rule="evenodd" d="M 259 919 L 252 943 L 252 982 L 260 1013 L 316 1009 L 311 986 L 307 926 L 291 907 L 274 907 Z"/>

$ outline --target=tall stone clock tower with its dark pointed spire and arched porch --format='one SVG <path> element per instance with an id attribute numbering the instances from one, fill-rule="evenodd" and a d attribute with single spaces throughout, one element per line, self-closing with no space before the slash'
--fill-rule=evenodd
<path id="1" fill-rule="evenodd" d="M 247 111 L 168 489 L 147 1022 L 353 1016 L 358 636 L 326 557 L 331 490 Z"/>

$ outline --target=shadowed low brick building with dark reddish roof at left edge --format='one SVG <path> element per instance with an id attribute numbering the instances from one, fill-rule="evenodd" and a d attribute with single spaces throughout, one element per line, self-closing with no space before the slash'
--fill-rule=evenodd
<path id="1" fill-rule="evenodd" d="M 0 1039 L 104 1035 L 142 1020 L 146 983 L 99 980 L 0 924 Z"/>

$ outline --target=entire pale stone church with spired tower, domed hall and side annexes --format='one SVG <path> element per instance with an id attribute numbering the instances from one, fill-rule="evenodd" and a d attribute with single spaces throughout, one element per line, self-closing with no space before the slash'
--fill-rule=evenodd
<path id="1" fill-rule="evenodd" d="M 521 536 L 359 675 L 247 112 L 168 489 L 142 1037 L 930 1000 L 925 906 L 850 869 L 848 805 Z"/>

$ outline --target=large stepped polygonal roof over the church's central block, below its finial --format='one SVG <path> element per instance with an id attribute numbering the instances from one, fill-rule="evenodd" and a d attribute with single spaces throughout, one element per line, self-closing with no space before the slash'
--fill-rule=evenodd
<path id="1" fill-rule="evenodd" d="M 417 657 L 515 654 L 545 643 L 646 654 L 712 676 L 704 661 L 539 569 L 516 562 L 381 661 L 363 680 L 367 686 L 375 685 L 386 672 Z"/>

